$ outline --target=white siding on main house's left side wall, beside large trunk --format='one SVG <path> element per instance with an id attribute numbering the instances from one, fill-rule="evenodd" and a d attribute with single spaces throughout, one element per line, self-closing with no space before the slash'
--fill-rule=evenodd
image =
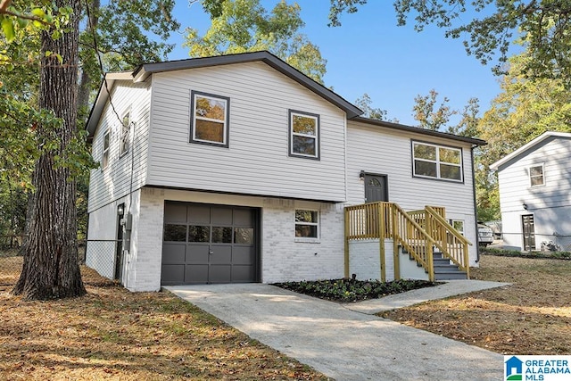
<path id="1" fill-rule="evenodd" d="M 112 87 L 111 99 L 115 110 L 110 104 L 105 106 L 92 145 L 93 157 L 103 157 L 103 137 L 108 132 L 111 134 L 109 164 L 106 170 L 91 170 L 88 211 L 112 203 L 128 195 L 131 189 L 136 190 L 145 185 L 150 94 L 147 83 L 117 81 Z M 129 153 L 120 156 L 122 119 L 127 113 L 129 143 L 124 148 L 128 148 Z"/>

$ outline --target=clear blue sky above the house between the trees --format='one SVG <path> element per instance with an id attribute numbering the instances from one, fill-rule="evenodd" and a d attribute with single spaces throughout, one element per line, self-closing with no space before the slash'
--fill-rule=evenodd
<path id="1" fill-rule="evenodd" d="M 276 3 L 261 1 L 268 10 Z M 297 4 L 306 24 L 302 33 L 327 59 L 325 85 L 350 102 L 367 93 L 373 106 L 386 110 L 389 119 L 416 125 L 414 98 L 428 95 L 433 88 L 439 100 L 448 97 L 455 110 L 462 110 L 468 99 L 476 97 L 481 112 L 500 93 L 491 67 L 468 56 L 460 39 L 445 38 L 443 29 L 436 27 L 418 33 L 412 22 L 397 27 L 392 1 L 369 0 L 359 12 L 343 14 L 342 26 L 336 28 L 327 27 L 329 1 L 297 0 Z M 191 26 L 203 33 L 210 26 L 200 4 L 189 7 L 186 0 L 178 0 L 175 16 L 182 29 Z M 182 35 L 170 40 L 177 45 L 170 60 L 188 58 L 183 41 Z"/>

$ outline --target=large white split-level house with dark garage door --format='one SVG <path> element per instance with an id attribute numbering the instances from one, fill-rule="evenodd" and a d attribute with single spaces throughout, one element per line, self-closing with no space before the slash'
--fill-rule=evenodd
<path id="1" fill-rule="evenodd" d="M 134 291 L 343 277 L 343 208 L 366 201 L 445 207 L 475 265 L 484 141 L 361 113 L 267 52 L 108 73 L 87 123 L 88 239 L 123 242 L 88 244 L 87 265 Z"/>

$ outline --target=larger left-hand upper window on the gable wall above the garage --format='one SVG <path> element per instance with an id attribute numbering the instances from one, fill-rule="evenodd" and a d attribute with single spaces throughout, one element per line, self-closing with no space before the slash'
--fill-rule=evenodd
<path id="1" fill-rule="evenodd" d="M 230 98 L 193 91 L 190 141 L 228 147 Z"/>

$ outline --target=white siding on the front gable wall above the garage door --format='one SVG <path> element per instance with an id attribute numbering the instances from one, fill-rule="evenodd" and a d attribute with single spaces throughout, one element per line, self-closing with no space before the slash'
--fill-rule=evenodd
<path id="1" fill-rule="evenodd" d="M 229 148 L 189 142 L 190 92 L 224 95 Z M 343 202 L 345 114 L 263 62 L 153 75 L 148 184 Z M 318 160 L 288 155 L 288 111 L 319 115 Z"/>

